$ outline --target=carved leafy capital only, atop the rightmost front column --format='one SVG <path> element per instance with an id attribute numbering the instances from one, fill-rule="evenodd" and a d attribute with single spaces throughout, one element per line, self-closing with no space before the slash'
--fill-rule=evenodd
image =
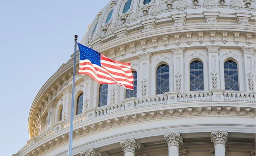
<path id="1" fill-rule="evenodd" d="M 228 141 L 228 131 L 211 131 L 211 142 L 213 145 L 224 144 Z"/>

